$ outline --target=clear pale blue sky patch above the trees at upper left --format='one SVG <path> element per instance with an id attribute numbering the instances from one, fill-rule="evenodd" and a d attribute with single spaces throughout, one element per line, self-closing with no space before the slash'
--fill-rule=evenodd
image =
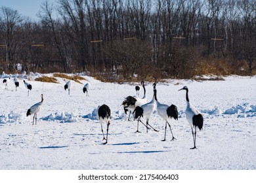
<path id="1" fill-rule="evenodd" d="M 0 7 L 9 7 L 18 10 L 22 16 L 29 16 L 32 20 L 36 20 L 36 14 L 39 12 L 41 3 L 45 0 L 0 0 Z M 49 0 L 54 3 L 57 0 Z"/>

